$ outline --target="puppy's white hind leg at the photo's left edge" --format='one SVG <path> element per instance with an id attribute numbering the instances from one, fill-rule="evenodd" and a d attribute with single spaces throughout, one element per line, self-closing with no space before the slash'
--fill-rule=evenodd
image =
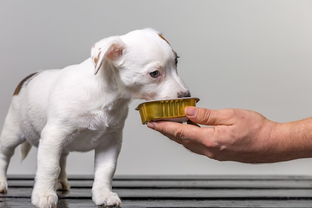
<path id="1" fill-rule="evenodd" d="M 7 191 L 7 168 L 15 148 L 25 141 L 23 133 L 16 125 L 13 113 L 8 112 L 0 135 L 0 193 Z"/>

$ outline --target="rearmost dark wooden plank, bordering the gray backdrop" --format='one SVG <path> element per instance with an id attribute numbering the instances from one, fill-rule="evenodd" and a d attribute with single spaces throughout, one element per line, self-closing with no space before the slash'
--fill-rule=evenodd
<path id="1" fill-rule="evenodd" d="M 160 178 L 144 178 L 138 179 L 134 177 L 127 177 L 114 179 L 113 187 L 115 188 L 205 188 L 205 189 L 311 189 L 312 178 L 311 177 L 263 177 L 263 178 L 242 178 L 241 176 L 232 177 L 220 177 L 212 179 L 203 177 L 194 178 L 185 177 L 184 179 L 170 180 L 170 177 Z M 93 184 L 92 178 L 70 178 L 69 183 L 72 188 L 91 188 Z M 11 178 L 8 180 L 9 187 L 33 187 L 33 179 L 21 180 L 17 178 Z"/>

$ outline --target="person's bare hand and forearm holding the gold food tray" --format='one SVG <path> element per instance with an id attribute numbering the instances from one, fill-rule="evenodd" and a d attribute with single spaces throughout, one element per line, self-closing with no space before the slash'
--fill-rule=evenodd
<path id="1" fill-rule="evenodd" d="M 219 161 L 256 164 L 312 157 L 312 118 L 278 123 L 255 111 L 198 107 L 187 107 L 185 115 L 188 124 L 153 121 L 148 127 Z"/>

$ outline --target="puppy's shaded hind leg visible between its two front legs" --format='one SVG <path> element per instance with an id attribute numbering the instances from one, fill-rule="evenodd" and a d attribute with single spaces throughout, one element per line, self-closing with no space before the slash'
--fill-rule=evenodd
<path id="1" fill-rule="evenodd" d="M 57 179 L 56 190 L 69 191 L 70 184 L 68 183 L 66 174 L 66 159 L 69 152 L 63 151 L 60 158 L 60 168 L 61 172 Z"/>

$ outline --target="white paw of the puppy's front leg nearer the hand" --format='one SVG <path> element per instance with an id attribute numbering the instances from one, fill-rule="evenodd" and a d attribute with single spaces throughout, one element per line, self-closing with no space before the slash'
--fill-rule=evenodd
<path id="1" fill-rule="evenodd" d="M 93 193 L 92 200 L 97 206 L 119 206 L 121 205 L 121 200 L 118 195 L 114 192 L 98 192 Z"/>

